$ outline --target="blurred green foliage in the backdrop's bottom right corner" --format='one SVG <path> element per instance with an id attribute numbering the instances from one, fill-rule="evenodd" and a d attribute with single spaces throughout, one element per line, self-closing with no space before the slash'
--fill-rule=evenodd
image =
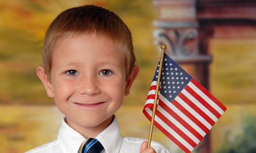
<path id="1" fill-rule="evenodd" d="M 241 135 L 233 140 L 226 140 L 218 153 L 256 153 L 256 118 L 244 119 L 244 128 Z M 228 139 L 228 137 L 226 137 Z"/>

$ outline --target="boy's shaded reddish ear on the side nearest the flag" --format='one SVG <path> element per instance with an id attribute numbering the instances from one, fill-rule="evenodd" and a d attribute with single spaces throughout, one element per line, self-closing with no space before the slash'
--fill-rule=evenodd
<path id="1" fill-rule="evenodd" d="M 128 76 L 126 80 L 125 90 L 124 90 L 124 96 L 129 95 L 130 89 L 132 87 L 133 81 L 137 78 L 140 71 L 140 67 L 138 65 L 134 65 L 132 68 L 132 71 L 130 75 Z"/>

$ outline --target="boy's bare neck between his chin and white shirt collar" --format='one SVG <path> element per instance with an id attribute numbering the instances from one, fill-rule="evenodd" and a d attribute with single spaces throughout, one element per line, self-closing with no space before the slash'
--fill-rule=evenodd
<path id="1" fill-rule="evenodd" d="M 66 117 L 66 122 L 70 127 L 72 127 L 75 131 L 80 133 L 83 137 L 89 139 L 89 138 L 95 138 L 97 135 L 99 135 L 103 130 L 106 129 L 106 127 L 108 127 L 112 123 L 113 119 L 114 119 L 114 115 L 104 120 L 99 125 L 93 126 L 93 127 L 82 126 L 74 122 L 73 120 L 69 119 L 68 117 Z"/>

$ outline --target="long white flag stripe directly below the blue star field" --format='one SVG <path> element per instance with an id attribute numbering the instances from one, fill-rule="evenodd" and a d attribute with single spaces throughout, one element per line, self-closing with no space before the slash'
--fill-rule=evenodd
<path id="1" fill-rule="evenodd" d="M 161 96 L 160 96 L 161 97 Z M 178 114 L 185 122 L 187 122 L 193 129 L 195 129 L 201 136 L 205 136 L 206 133 L 192 120 L 190 120 L 185 114 L 183 114 L 178 108 L 176 108 L 172 103 L 170 103 L 166 98 L 160 98 L 165 105 L 167 105 L 171 110 Z"/>

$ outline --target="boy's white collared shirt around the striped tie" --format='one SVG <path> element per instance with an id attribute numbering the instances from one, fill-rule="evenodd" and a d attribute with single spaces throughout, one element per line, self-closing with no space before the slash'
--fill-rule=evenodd
<path id="1" fill-rule="evenodd" d="M 140 138 L 123 138 L 115 116 L 113 122 L 102 131 L 96 139 L 103 145 L 101 153 L 139 152 L 141 143 L 146 141 Z M 77 153 L 80 145 L 86 140 L 81 134 L 72 129 L 62 118 L 58 138 L 54 141 L 31 149 L 25 153 Z M 169 153 L 161 144 L 152 141 L 151 146 L 158 153 Z"/>

